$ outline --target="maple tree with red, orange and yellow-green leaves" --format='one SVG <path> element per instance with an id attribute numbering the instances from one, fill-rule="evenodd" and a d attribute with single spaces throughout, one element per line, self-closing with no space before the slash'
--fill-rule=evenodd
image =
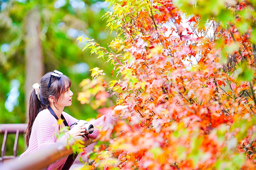
<path id="1" fill-rule="evenodd" d="M 77 40 L 120 79 L 94 68 L 78 100 L 128 108 L 84 169 L 255 169 L 255 0 L 109 3 L 109 49 Z"/>

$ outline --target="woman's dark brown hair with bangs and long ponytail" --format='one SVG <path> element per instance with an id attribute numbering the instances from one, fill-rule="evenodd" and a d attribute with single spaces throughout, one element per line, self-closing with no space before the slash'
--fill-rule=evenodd
<path id="1" fill-rule="evenodd" d="M 49 102 L 49 96 L 53 96 L 53 105 L 56 107 L 56 103 L 58 103 L 60 97 L 62 97 L 62 94 L 71 86 L 70 79 L 65 75 L 60 75 L 60 78 L 52 76 L 51 74 L 53 72 L 46 73 L 40 81 L 40 100 L 38 99 L 35 89 L 31 91 L 30 97 L 29 97 L 29 103 L 28 103 L 28 127 L 25 131 L 26 136 L 26 144 L 28 146 L 29 138 L 32 130 L 32 125 L 36 119 L 37 114 L 48 107 L 50 104 Z M 49 88 L 49 80 L 51 78 L 51 83 Z M 68 85 L 68 86 L 67 86 Z"/>

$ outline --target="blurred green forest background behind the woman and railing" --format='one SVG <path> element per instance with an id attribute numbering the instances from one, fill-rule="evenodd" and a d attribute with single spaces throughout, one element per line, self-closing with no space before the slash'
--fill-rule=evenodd
<path id="1" fill-rule="evenodd" d="M 88 36 L 107 47 L 116 33 L 105 30 L 101 17 L 110 10 L 99 0 L 0 0 L 0 123 L 26 123 L 32 85 L 55 69 L 72 82 L 72 105 L 64 111 L 77 119 L 96 118 L 95 110 L 76 100 L 79 83 L 90 78 L 94 67 L 103 69 L 108 81 L 113 66 L 91 56 L 90 49 L 82 51 L 84 44 L 76 38 Z M 13 144 L 14 135 L 9 135 L 6 155 L 12 155 Z M 18 155 L 25 149 L 20 137 Z"/>

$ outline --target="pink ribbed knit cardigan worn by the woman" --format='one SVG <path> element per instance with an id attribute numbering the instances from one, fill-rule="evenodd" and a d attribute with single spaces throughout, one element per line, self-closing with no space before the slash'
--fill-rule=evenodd
<path id="1" fill-rule="evenodd" d="M 65 117 L 68 125 L 77 122 L 78 120 L 65 112 L 62 112 Z M 115 121 L 115 118 L 112 114 L 103 115 L 100 118 L 90 121 L 89 123 L 94 126 L 94 131 L 92 134 L 88 135 L 91 139 L 96 139 L 100 133 L 99 128 L 108 128 L 109 125 L 112 125 Z M 72 126 L 74 127 L 74 125 Z M 72 129 L 71 127 L 71 129 Z M 20 155 L 20 158 L 25 157 L 33 152 L 46 148 L 56 142 L 67 140 L 69 134 L 66 132 L 61 138 L 57 141 L 57 134 L 59 134 L 59 125 L 55 117 L 49 112 L 48 109 L 44 109 L 38 113 L 36 119 L 32 126 L 31 135 L 29 138 L 28 149 Z M 68 157 L 57 160 L 56 162 L 50 164 L 47 169 L 56 169 L 60 170 Z"/>

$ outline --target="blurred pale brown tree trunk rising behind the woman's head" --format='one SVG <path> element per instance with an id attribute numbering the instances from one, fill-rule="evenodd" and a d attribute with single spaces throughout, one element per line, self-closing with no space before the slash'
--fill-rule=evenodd
<path id="1" fill-rule="evenodd" d="M 34 83 L 40 83 L 43 75 L 44 64 L 42 45 L 40 41 L 40 15 L 37 8 L 28 12 L 25 18 L 25 57 L 26 57 L 26 79 L 25 95 L 26 101 L 29 101 L 30 91 Z M 27 111 L 28 112 L 28 111 Z"/>

